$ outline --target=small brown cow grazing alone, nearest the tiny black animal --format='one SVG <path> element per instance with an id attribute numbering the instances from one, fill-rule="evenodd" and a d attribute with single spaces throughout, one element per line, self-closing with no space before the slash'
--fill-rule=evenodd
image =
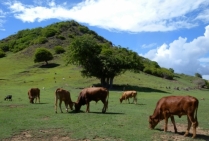
<path id="1" fill-rule="evenodd" d="M 37 101 L 37 99 L 39 100 L 39 103 L 40 103 L 40 89 L 39 88 L 31 88 L 29 91 L 28 91 L 28 98 L 30 100 L 30 103 L 34 103 L 33 100 L 35 100 L 35 103 Z"/>

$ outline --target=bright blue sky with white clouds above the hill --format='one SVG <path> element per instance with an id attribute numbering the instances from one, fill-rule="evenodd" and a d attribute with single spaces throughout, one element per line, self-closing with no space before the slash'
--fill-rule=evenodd
<path id="1" fill-rule="evenodd" d="M 209 79 L 209 0 L 0 0 L 0 40 L 67 20 L 161 67 Z"/>

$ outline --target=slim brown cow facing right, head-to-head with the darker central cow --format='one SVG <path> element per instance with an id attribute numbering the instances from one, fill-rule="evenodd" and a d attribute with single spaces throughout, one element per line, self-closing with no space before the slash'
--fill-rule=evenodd
<path id="1" fill-rule="evenodd" d="M 71 97 L 70 97 L 70 92 L 67 91 L 67 90 L 64 90 L 62 88 L 58 88 L 55 91 L 55 113 L 57 113 L 57 101 L 58 101 L 58 99 L 59 99 L 59 107 L 60 107 L 61 113 L 63 113 L 62 108 L 61 108 L 62 101 L 65 102 L 65 107 L 66 107 L 67 112 L 68 112 L 68 105 L 69 105 L 70 109 L 73 110 L 73 102 L 72 102 Z"/>

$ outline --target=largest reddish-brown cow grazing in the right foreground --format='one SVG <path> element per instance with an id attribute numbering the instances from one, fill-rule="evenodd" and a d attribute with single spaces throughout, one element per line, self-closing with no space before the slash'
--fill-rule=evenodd
<path id="1" fill-rule="evenodd" d="M 184 134 L 187 136 L 189 134 L 190 127 L 193 127 L 193 136 L 196 136 L 196 128 L 198 126 L 197 121 L 197 109 L 199 101 L 192 96 L 167 96 L 161 98 L 156 105 L 155 111 L 152 116 L 149 117 L 149 126 L 151 129 L 155 128 L 159 121 L 165 119 L 164 131 L 167 131 L 168 118 L 174 125 L 175 133 L 177 133 L 177 128 L 175 125 L 174 115 L 178 115 L 179 118 L 182 115 L 187 115 L 188 127 Z"/>

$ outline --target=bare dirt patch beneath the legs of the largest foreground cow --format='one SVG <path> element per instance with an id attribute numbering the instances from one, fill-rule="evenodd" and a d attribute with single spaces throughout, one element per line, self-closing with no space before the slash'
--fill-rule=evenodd
<path id="1" fill-rule="evenodd" d="M 190 134 L 187 137 L 184 137 L 184 133 L 187 129 L 187 124 L 176 124 L 178 133 L 174 132 L 174 127 L 173 124 L 168 124 L 168 131 L 164 132 L 164 122 L 160 122 L 161 129 L 158 129 L 162 131 L 160 135 L 155 135 L 153 137 L 153 140 L 158 141 L 189 141 L 192 140 L 192 127 L 190 129 Z M 200 127 L 197 128 L 196 131 L 196 139 L 201 139 L 201 140 L 209 140 L 209 130 L 204 130 Z"/>

